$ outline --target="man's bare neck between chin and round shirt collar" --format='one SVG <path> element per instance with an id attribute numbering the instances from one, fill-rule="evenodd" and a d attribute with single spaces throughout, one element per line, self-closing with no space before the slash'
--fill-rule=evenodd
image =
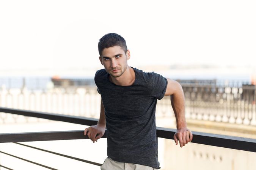
<path id="1" fill-rule="evenodd" d="M 120 77 L 109 77 L 110 81 L 119 86 L 129 86 L 135 81 L 135 72 L 133 68 L 127 66 L 126 71 Z"/>

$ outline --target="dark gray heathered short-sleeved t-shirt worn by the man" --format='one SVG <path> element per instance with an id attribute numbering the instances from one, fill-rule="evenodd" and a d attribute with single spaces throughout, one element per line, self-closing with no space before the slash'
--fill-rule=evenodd
<path id="1" fill-rule="evenodd" d="M 154 72 L 133 70 L 135 82 L 130 86 L 110 82 L 105 69 L 95 74 L 105 108 L 107 155 L 114 161 L 159 168 L 155 107 L 165 94 L 167 80 Z"/>

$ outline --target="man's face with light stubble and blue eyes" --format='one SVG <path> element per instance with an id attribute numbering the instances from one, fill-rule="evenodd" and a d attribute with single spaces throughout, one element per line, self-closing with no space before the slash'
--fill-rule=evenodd
<path id="1" fill-rule="evenodd" d="M 99 57 L 101 64 L 112 77 L 120 77 L 127 69 L 127 60 L 130 59 L 130 51 L 126 53 L 120 46 L 104 48 Z"/>

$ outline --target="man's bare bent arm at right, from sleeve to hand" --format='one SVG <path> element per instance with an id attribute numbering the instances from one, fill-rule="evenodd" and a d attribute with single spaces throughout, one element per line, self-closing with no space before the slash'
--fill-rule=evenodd
<path id="1" fill-rule="evenodd" d="M 176 118 L 177 131 L 174 134 L 174 141 L 180 147 L 185 146 L 188 142 L 192 141 L 193 134 L 187 128 L 185 119 L 185 97 L 181 85 L 175 80 L 167 79 L 167 88 L 165 96 L 171 96 L 171 106 Z"/>

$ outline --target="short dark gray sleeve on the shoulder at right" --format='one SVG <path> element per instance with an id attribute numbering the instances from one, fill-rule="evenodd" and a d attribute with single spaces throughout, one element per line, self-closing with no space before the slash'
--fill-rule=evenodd
<path id="1" fill-rule="evenodd" d="M 151 73 L 151 96 L 156 97 L 157 99 L 162 99 L 165 96 L 165 91 L 167 88 L 167 79 L 160 74 Z"/>

